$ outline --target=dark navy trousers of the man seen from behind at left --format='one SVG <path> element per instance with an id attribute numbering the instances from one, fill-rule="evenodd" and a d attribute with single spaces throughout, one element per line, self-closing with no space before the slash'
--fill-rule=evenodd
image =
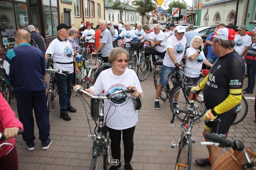
<path id="1" fill-rule="evenodd" d="M 17 110 L 19 120 L 24 127 L 23 140 L 32 143 L 35 139 L 34 135 L 34 118 L 39 130 L 39 139 L 46 142 L 50 134 L 50 124 L 47 114 L 46 94 L 45 90 L 39 92 L 16 92 Z"/>

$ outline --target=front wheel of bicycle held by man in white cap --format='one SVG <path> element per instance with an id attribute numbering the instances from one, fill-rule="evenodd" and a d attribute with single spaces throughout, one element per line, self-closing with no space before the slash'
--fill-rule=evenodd
<path id="1" fill-rule="evenodd" d="M 187 83 L 186 86 L 188 88 L 191 88 L 193 86 L 192 83 Z M 188 103 L 187 95 L 186 95 L 187 89 L 183 89 L 181 86 L 177 87 L 172 91 L 171 97 L 170 97 L 170 107 L 172 113 L 174 113 L 175 109 L 189 109 L 190 103 Z M 173 102 L 177 102 L 178 105 L 173 105 Z M 202 115 L 206 112 L 206 107 L 204 106 L 204 100 L 203 100 L 203 91 L 201 91 L 198 94 L 197 101 L 194 103 L 195 111 L 201 111 Z M 174 108 L 175 107 L 175 108 Z M 177 115 L 177 118 L 180 120 L 183 120 L 186 114 L 180 113 Z M 193 120 L 199 119 L 201 116 L 195 116 Z M 185 119 L 186 120 L 186 119 Z"/>

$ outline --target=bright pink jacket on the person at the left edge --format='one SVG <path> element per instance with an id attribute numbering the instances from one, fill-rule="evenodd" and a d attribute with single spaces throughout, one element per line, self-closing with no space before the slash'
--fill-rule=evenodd
<path id="1" fill-rule="evenodd" d="M 15 112 L 12 111 L 8 102 L 0 94 L 0 132 L 3 133 L 5 128 L 18 127 L 23 129 L 23 124 L 15 117 Z M 0 144 L 5 142 L 4 140 L 0 141 Z M 0 151 L 0 159 L 4 157 L 14 146 L 15 138 L 9 139 L 8 143 L 12 143 L 13 146 L 4 145 Z"/>

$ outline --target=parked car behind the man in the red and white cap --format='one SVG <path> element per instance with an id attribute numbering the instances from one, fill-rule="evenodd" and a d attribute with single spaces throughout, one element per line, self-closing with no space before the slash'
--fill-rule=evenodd
<path id="1" fill-rule="evenodd" d="M 233 30 L 236 31 L 236 35 L 238 35 L 238 26 L 225 26 L 226 28 L 231 28 Z M 205 42 L 206 38 L 208 37 L 208 35 L 210 35 L 212 32 L 215 31 L 215 29 L 217 28 L 216 25 L 213 25 L 213 26 L 204 26 L 204 27 L 200 27 L 198 29 L 195 29 L 195 31 L 197 31 L 199 33 L 199 35 L 202 37 L 203 39 L 203 42 Z M 245 32 L 247 35 L 249 35 L 250 37 L 253 36 L 253 31 L 248 31 L 246 30 Z"/>

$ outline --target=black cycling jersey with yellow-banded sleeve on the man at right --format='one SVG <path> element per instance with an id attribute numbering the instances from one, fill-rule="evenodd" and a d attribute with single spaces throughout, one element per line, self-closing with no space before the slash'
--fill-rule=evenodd
<path id="1" fill-rule="evenodd" d="M 207 109 L 214 108 L 217 114 L 238 113 L 245 71 L 244 60 L 236 51 L 219 57 L 210 69 L 206 83 L 204 81 Z"/>

